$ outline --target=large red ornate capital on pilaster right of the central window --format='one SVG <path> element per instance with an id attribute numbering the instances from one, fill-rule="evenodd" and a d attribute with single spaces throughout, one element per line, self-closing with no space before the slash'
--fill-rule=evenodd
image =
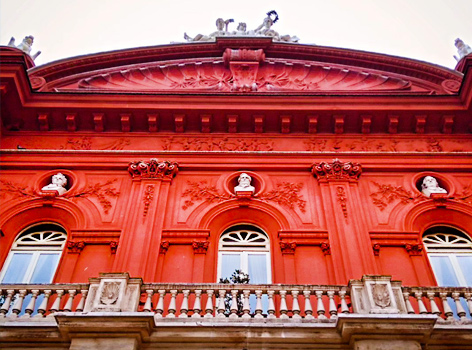
<path id="1" fill-rule="evenodd" d="M 313 164 L 311 172 L 319 181 L 357 181 L 362 173 L 362 167 L 359 163 L 334 159 L 332 163 Z"/>

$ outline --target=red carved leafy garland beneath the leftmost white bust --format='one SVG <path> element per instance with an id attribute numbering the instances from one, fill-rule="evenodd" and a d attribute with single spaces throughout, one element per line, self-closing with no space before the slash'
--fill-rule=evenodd
<path id="1" fill-rule="evenodd" d="M 103 208 L 105 214 L 108 214 L 112 208 L 112 204 L 109 200 L 109 197 L 118 197 L 120 192 L 115 188 L 110 187 L 117 179 L 108 180 L 105 183 L 97 182 L 94 185 L 89 185 L 80 192 L 69 193 L 66 192 L 59 198 L 63 199 L 73 199 L 73 198 L 86 198 L 86 197 L 95 197 L 98 199 L 100 205 Z M 51 199 L 55 196 L 50 196 L 49 194 L 42 194 L 36 191 L 33 191 L 28 186 L 22 187 L 21 185 L 11 182 L 0 180 L 0 183 L 3 185 L 0 188 L 0 196 L 4 196 L 6 193 L 13 195 L 14 197 L 26 197 L 26 198 L 45 198 Z"/>

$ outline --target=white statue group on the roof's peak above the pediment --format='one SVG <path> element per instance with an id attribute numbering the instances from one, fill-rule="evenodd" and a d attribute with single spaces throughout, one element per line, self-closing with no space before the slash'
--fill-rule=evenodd
<path id="1" fill-rule="evenodd" d="M 218 18 L 216 20 L 216 31 L 209 34 L 203 35 L 198 34 L 195 37 L 190 37 L 187 33 L 184 33 L 184 39 L 187 41 L 212 41 L 215 40 L 218 36 L 266 36 L 273 38 L 274 41 L 283 41 L 288 43 L 296 43 L 298 39 L 296 36 L 290 35 L 279 35 L 275 30 L 272 29 L 272 26 L 277 22 L 279 16 L 277 12 L 270 11 L 267 13 L 267 17 L 264 18 L 261 25 L 259 25 L 254 30 L 247 30 L 246 23 L 240 22 L 235 31 L 229 31 L 228 25 L 233 23 L 233 19 L 227 19 L 226 21 L 223 18 Z"/>

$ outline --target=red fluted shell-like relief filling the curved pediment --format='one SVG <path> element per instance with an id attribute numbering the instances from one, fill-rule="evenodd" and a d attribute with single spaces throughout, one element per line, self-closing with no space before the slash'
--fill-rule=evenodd
<path id="1" fill-rule="evenodd" d="M 257 70 L 257 72 L 254 72 Z M 250 80 L 247 89 L 237 89 L 237 80 Z M 253 79 L 248 77 L 254 75 Z M 245 77 L 244 77 L 245 76 Z M 244 84 L 243 84 L 244 85 Z M 321 63 L 268 60 L 256 67 L 244 62 L 227 67 L 223 61 L 155 65 L 113 71 L 83 79 L 80 89 L 122 91 L 211 92 L 316 92 L 407 90 L 411 82 L 374 72 Z"/>

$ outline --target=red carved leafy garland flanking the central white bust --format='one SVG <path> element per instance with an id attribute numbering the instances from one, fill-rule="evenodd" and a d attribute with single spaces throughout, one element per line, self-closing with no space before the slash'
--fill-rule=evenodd
<path id="1" fill-rule="evenodd" d="M 219 193 L 215 186 L 208 185 L 206 181 L 188 181 L 188 185 L 189 188 L 182 193 L 182 197 L 190 197 L 190 199 L 187 199 L 182 206 L 182 209 L 184 210 L 194 205 L 196 201 L 214 203 L 236 198 L 234 195 Z M 275 189 L 254 196 L 254 198 L 266 202 L 273 201 L 292 210 L 295 209 L 295 206 L 298 206 L 300 211 L 304 213 L 306 201 L 303 199 L 302 195 L 299 194 L 302 187 L 302 183 L 294 184 L 282 182 L 277 184 Z"/>

